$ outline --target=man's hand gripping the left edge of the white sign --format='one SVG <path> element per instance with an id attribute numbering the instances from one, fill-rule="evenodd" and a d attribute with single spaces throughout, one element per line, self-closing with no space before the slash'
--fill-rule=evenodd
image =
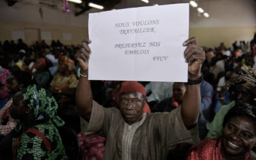
<path id="1" fill-rule="evenodd" d="M 92 51 L 88 46 L 90 43 L 92 43 L 92 41 L 89 39 L 82 40 L 83 47 L 76 54 L 76 60 L 81 68 L 81 73 L 88 72 L 88 60 L 90 60 L 90 55 L 92 54 Z"/>

